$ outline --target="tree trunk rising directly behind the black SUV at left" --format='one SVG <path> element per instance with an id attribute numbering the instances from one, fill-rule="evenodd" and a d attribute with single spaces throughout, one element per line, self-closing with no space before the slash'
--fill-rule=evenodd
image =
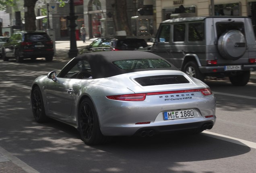
<path id="1" fill-rule="evenodd" d="M 35 26 L 35 3 L 37 0 L 24 0 L 25 10 L 25 30 L 34 31 L 36 30 Z"/>

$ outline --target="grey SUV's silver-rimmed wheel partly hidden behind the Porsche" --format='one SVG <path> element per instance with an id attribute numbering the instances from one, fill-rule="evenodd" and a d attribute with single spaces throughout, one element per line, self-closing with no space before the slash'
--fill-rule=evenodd
<path id="1" fill-rule="evenodd" d="M 183 71 L 191 77 L 204 81 L 205 75 L 200 72 L 198 65 L 194 61 L 187 62 Z"/>

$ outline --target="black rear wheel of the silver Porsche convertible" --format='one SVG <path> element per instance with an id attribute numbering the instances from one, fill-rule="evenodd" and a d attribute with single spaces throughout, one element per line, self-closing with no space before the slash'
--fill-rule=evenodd
<path id="1" fill-rule="evenodd" d="M 78 131 L 87 145 L 107 142 L 107 137 L 101 133 L 95 107 L 89 98 L 85 98 L 78 108 Z"/>

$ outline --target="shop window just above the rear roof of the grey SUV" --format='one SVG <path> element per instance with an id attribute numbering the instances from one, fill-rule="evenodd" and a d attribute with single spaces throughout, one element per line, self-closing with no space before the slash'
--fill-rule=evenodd
<path id="1" fill-rule="evenodd" d="M 240 3 L 214 5 L 215 16 L 241 16 Z"/>

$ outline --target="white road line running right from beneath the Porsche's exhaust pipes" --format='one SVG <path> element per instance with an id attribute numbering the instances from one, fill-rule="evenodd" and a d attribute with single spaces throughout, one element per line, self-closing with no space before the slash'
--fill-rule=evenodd
<path id="1" fill-rule="evenodd" d="M 244 145 L 244 146 L 256 149 L 256 143 L 251 142 L 251 141 L 246 141 L 246 140 L 243 140 L 243 139 L 229 137 L 229 136 L 226 136 L 226 135 L 221 135 L 221 134 L 213 133 L 213 132 L 209 132 L 209 131 L 203 131 L 202 134 L 206 135 L 206 136 L 209 136 L 209 137 L 216 138 L 216 139 L 221 139 L 223 141 L 228 141 L 228 142 L 231 142 L 231 143 L 236 143 L 236 144 L 239 144 L 239 145 Z"/>

